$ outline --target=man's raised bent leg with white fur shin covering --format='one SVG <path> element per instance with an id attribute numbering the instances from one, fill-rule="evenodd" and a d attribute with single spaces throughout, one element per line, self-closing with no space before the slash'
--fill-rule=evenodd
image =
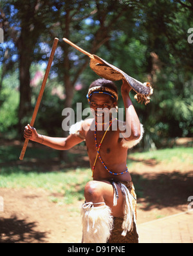
<path id="1" fill-rule="evenodd" d="M 113 229 L 113 217 L 123 217 L 124 198 L 120 187 L 117 205 L 113 206 L 114 189 L 110 182 L 91 181 L 86 184 L 86 203 L 82 206 L 82 242 L 107 242 Z"/>

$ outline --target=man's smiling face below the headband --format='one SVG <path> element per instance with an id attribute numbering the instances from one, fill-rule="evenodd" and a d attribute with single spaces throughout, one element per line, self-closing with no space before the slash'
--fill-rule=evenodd
<path id="1" fill-rule="evenodd" d="M 116 102 L 113 103 L 111 96 L 107 94 L 93 93 L 90 100 L 90 107 L 95 111 L 95 120 L 104 122 L 106 118 L 112 118 L 112 113 L 109 111 L 116 107 Z"/>

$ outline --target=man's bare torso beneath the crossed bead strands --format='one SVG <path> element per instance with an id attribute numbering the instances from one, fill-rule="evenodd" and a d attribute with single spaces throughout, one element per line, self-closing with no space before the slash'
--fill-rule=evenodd
<path id="1" fill-rule="evenodd" d="M 86 125 L 84 123 L 84 137 L 86 138 L 87 154 L 89 156 L 91 168 L 93 167 L 97 154 L 95 131 L 91 131 L 90 129 L 91 125 L 93 127 L 93 122 L 95 122 L 95 120 L 91 119 L 86 121 Z M 115 120 L 114 122 L 118 122 L 118 120 Z M 108 125 L 106 127 L 98 126 L 98 128 L 102 128 L 103 131 L 98 131 L 96 129 L 96 142 L 98 146 L 108 127 Z M 127 149 L 125 147 L 122 147 L 122 138 L 120 138 L 120 131 L 118 129 L 116 131 L 112 130 L 112 127 L 110 127 L 109 131 L 107 131 L 106 136 L 104 137 L 104 140 L 100 147 L 99 153 L 102 161 L 106 165 L 107 169 L 109 169 L 109 171 L 111 171 L 112 173 L 122 173 L 127 170 Z M 131 175 L 129 175 L 128 172 L 124 175 L 112 175 L 107 171 L 107 169 L 104 167 L 100 159 L 97 158 L 93 176 L 94 180 L 107 180 L 110 178 L 115 178 L 116 180 L 120 181 L 131 180 Z"/>

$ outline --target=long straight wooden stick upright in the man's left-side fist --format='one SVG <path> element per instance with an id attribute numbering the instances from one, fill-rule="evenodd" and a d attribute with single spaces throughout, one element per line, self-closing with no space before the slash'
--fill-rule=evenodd
<path id="1" fill-rule="evenodd" d="M 49 73 L 50 73 L 51 63 L 52 63 L 52 61 L 53 61 L 53 56 L 54 56 L 54 54 L 55 54 L 55 50 L 56 50 L 56 48 L 57 48 L 58 42 L 59 42 L 59 39 L 58 39 L 57 37 L 55 37 L 55 39 L 54 39 L 54 41 L 53 41 L 53 46 L 52 46 L 52 48 L 51 48 L 51 54 L 50 54 L 50 58 L 49 58 L 49 60 L 48 60 L 48 65 L 47 65 L 47 68 L 46 68 L 46 73 L 44 74 L 44 79 L 43 79 L 43 81 L 42 81 L 41 91 L 39 92 L 39 96 L 38 96 L 38 98 L 37 98 L 37 102 L 36 102 L 36 105 L 35 105 L 35 109 L 34 109 L 34 111 L 33 111 L 32 120 L 31 120 L 31 122 L 30 122 L 30 126 L 32 126 L 32 127 L 33 127 L 33 125 L 34 125 L 34 123 L 35 123 L 35 118 L 36 118 L 36 116 L 37 116 L 37 112 L 38 112 L 38 110 L 39 110 L 39 106 L 40 106 L 40 103 L 41 103 L 41 100 L 42 100 L 42 96 L 43 96 L 43 94 L 44 94 L 44 89 L 45 89 L 45 87 L 46 87 L 46 81 L 48 80 L 48 75 L 49 75 Z M 27 147 L 28 147 L 28 142 L 29 142 L 28 139 L 26 139 L 26 140 L 24 141 L 23 149 L 22 149 L 21 155 L 20 155 L 20 157 L 19 157 L 20 160 L 23 160 L 23 158 L 24 158 L 24 155 L 25 155 L 25 153 L 26 153 L 26 149 L 27 149 Z"/>

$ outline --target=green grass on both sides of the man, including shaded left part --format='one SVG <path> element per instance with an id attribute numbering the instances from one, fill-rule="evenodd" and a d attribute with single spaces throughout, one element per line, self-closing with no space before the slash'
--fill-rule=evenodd
<path id="1" fill-rule="evenodd" d="M 46 171 L 43 163 L 48 157 L 57 156 L 56 151 L 46 147 L 30 148 L 30 152 L 26 153 L 25 162 L 21 164 L 18 162 L 20 151 L 21 148 L 18 146 L 0 145 L 0 187 L 46 189 L 50 191 L 49 200 L 57 204 L 71 204 L 84 199 L 84 186 L 91 180 L 91 169 L 84 167 L 67 169 L 59 165 L 56 171 Z M 73 159 L 73 156 L 71 157 Z M 154 159 L 157 162 L 169 162 L 176 158 L 181 162 L 188 159 L 188 162 L 193 164 L 193 149 L 178 147 L 145 153 L 130 153 L 128 165 L 129 168 L 134 167 L 138 163 L 137 160 Z M 39 162 L 32 164 L 33 159 L 39 160 L 42 165 Z"/>

